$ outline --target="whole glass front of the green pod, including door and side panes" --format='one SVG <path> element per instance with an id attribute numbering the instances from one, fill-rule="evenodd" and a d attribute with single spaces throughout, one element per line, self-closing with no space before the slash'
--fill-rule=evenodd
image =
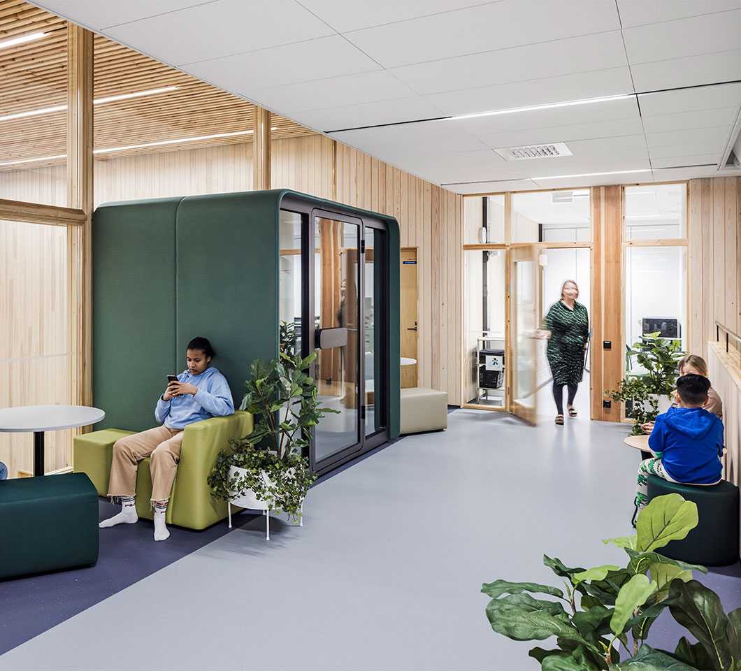
<path id="1" fill-rule="evenodd" d="M 322 473 L 388 439 L 386 232 L 357 216 L 290 211 L 297 206 L 281 211 L 280 316 L 297 352 L 316 351 L 319 401 L 335 411 L 307 455 Z"/>

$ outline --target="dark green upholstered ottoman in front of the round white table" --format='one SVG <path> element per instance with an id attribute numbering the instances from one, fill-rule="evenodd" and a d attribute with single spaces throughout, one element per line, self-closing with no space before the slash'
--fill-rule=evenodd
<path id="1" fill-rule="evenodd" d="M 0 481 L 0 579 L 98 561 L 98 493 L 84 473 Z"/>

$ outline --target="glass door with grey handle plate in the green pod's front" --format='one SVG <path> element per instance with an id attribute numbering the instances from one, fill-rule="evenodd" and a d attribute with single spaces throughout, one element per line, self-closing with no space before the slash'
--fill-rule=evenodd
<path id="1" fill-rule="evenodd" d="M 319 401 L 334 410 L 315 427 L 315 469 L 362 449 L 362 276 L 359 223 L 313 217 L 315 378 Z"/>

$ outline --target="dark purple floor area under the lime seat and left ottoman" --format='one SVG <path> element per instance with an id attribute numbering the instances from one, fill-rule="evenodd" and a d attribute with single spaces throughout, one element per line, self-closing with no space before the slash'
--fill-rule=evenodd
<path id="1" fill-rule="evenodd" d="M 100 519 L 119 510 L 99 501 Z M 233 525 L 259 516 L 240 513 Z M 0 581 L 0 655 L 229 532 L 226 520 L 203 531 L 168 528 L 170 538 L 159 543 L 149 520 L 102 529 L 95 566 Z"/>

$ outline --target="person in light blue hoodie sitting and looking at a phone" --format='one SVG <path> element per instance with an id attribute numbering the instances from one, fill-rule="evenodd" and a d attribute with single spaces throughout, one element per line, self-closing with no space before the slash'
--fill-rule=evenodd
<path id="1" fill-rule="evenodd" d="M 108 495 L 121 499 L 121 512 L 102 521 L 99 527 L 134 524 L 139 520 L 135 506 L 136 468 L 150 457 L 154 540 L 164 541 L 170 532 L 165 524 L 167 502 L 180 461 L 183 430 L 194 421 L 234 413 L 231 390 L 224 375 L 210 365 L 213 347 L 207 338 L 193 338 L 185 352 L 187 369 L 157 401 L 154 418 L 162 426 L 134 433 L 113 444 Z"/>

